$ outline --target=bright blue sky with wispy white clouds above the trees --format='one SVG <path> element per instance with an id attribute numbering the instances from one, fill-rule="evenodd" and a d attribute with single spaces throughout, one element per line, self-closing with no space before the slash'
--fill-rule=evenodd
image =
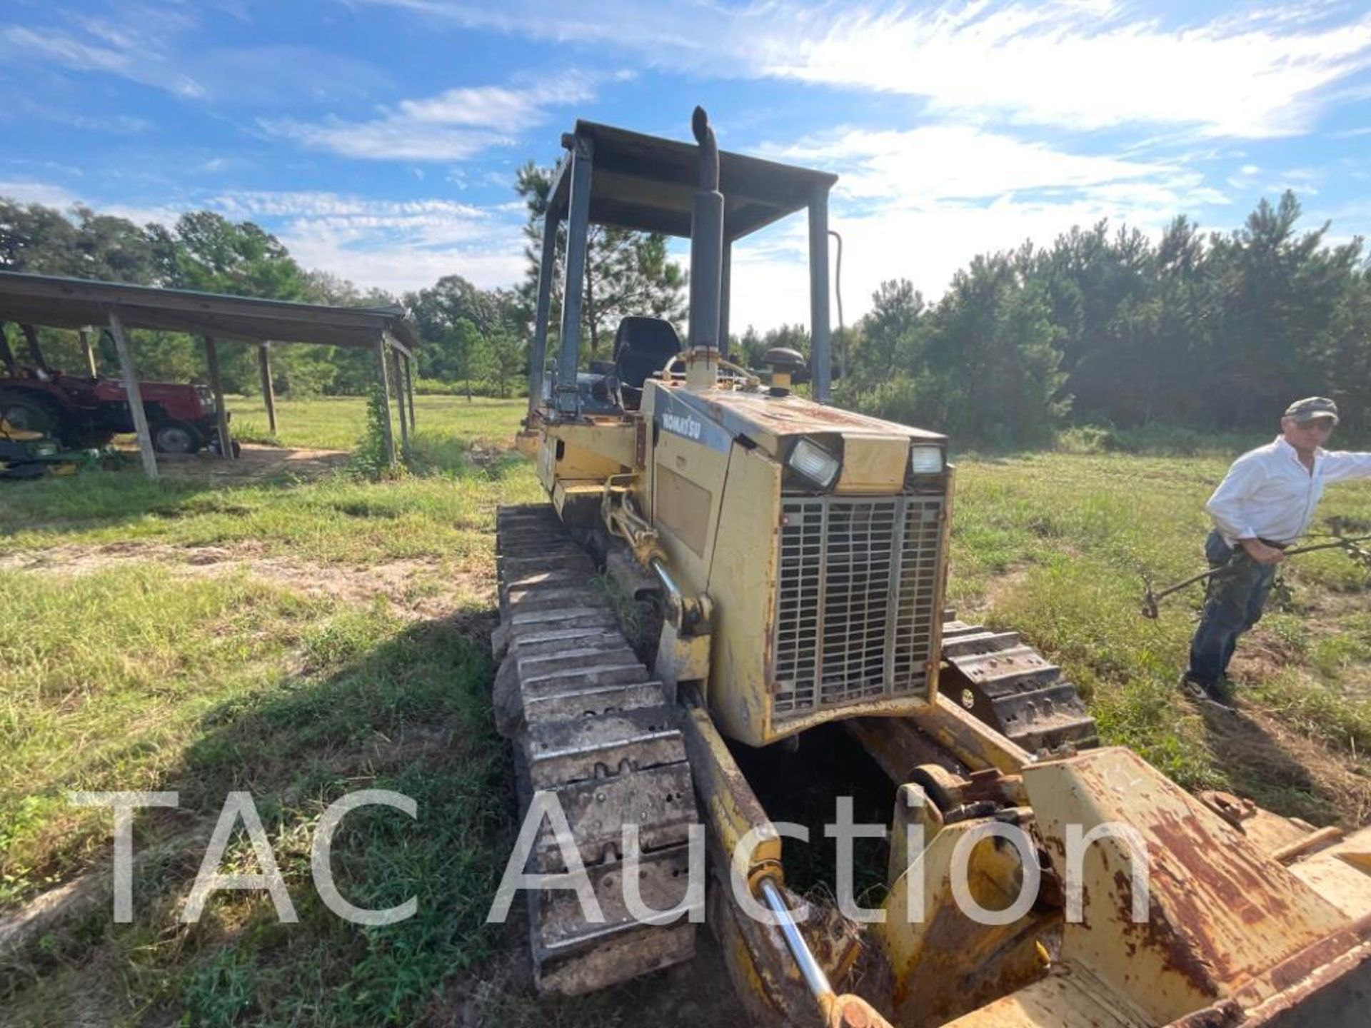
<path id="1" fill-rule="evenodd" d="M 0 195 L 207 207 L 391 291 L 522 273 L 511 189 L 577 117 L 842 175 L 843 300 L 938 296 L 1100 218 L 1237 228 L 1294 189 L 1371 229 L 1364 3 L 8 0 Z M 735 330 L 805 321 L 805 225 L 735 251 Z M 684 251 L 681 251 L 684 254 Z"/>

